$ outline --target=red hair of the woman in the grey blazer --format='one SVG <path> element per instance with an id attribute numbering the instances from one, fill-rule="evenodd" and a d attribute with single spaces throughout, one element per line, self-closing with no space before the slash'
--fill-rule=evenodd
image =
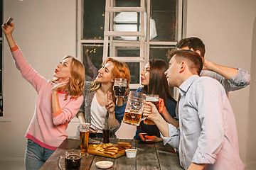
<path id="1" fill-rule="evenodd" d="M 125 62 L 120 62 L 120 61 L 114 60 L 112 58 L 107 58 L 102 63 L 102 66 L 107 64 L 107 62 L 112 62 L 114 64 L 114 67 L 111 72 L 112 79 L 114 79 L 114 78 L 127 79 L 127 91 L 129 91 L 129 83 L 131 82 L 131 76 L 130 76 L 129 67 L 127 66 L 127 64 L 125 64 Z M 113 85 L 114 84 L 112 84 L 112 86 Z M 90 91 L 96 91 L 97 89 L 100 88 L 100 86 L 101 86 L 101 83 L 95 79 L 92 82 L 92 89 L 90 89 Z M 113 89 L 111 92 L 113 94 Z M 115 98 L 114 98 L 114 101 L 115 101 Z"/>

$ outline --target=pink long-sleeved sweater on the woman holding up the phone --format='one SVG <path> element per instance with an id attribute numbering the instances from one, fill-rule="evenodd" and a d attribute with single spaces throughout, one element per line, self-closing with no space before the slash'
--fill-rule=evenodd
<path id="1" fill-rule="evenodd" d="M 65 93 L 58 91 L 60 111 L 52 113 L 51 95 L 53 83 L 41 77 L 28 64 L 21 50 L 16 47 L 11 48 L 15 64 L 21 75 L 37 91 L 36 108 L 31 123 L 26 132 L 26 137 L 36 142 L 41 147 L 55 150 L 68 137 L 66 129 L 82 104 L 83 96 L 65 99 Z"/>

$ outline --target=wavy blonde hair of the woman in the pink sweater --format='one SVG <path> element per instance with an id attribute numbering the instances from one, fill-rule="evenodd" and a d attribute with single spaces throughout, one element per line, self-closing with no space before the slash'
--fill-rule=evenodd
<path id="1" fill-rule="evenodd" d="M 84 86 L 85 82 L 85 67 L 84 65 L 77 60 L 75 57 L 72 57 L 70 55 L 63 58 L 70 59 L 70 80 L 68 81 L 68 84 L 65 86 L 64 92 L 67 94 L 65 95 L 65 100 L 70 95 L 70 99 L 78 98 L 82 95 L 82 88 Z M 58 78 L 52 79 L 53 83 L 58 83 Z"/>

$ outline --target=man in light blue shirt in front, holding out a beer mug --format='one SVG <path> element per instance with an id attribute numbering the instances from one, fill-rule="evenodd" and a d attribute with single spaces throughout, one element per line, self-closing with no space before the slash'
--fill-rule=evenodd
<path id="1" fill-rule="evenodd" d="M 150 102 L 146 102 L 143 115 L 156 123 L 164 145 L 178 150 L 184 169 L 244 169 L 225 89 L 215 79 L 199 77 L 203 60 L 197 52 L 175 50 L 171 56 L 165 74 L 169 86 L 178 87 L 181 94 L 179 127 L 166 123 Z"/>

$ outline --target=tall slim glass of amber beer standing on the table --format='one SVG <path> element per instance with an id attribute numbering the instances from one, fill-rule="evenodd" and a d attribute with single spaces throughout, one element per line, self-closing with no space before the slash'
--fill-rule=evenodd
<path id="1" fill-rule="evenodd" d="M 82 156 L 88 155 L 88 140 L 89 140 L 89 127 L 90 123 L 80 123 L 79 132 L 80 132 L 80 149 Z"/>

